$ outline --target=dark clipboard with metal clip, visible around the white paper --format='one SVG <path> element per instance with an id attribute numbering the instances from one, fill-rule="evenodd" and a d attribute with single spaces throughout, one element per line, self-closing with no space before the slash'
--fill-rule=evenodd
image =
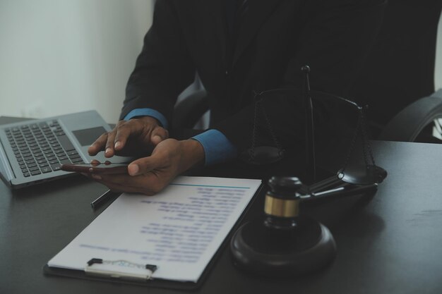
<path id="1" fill-rule="evenodd" d="M 229 240 L 232 238 L 232 235 L 237 228 L 239 228 L 241 222 L 244 220 L 247 212 L 256 201 L 258 195 L 260 195 L 261 190 L 263 188 L 263 184 L 258 186 L 256 192 L 254 192 L 253 197 L 246 205 L 244 211 L 241 213 L 237 221 L 234 223 L 234 226 L 230 228 L 229 233 L 226 238 L 222 241 L 220 247 L 217 248 L 215 255 L 210 259 L 210 262 L 204 268 L 201 276 L 198 278 L 198 281 L 174 281 L 169 279 L 162 278 L 151 278 L 151 275 L 155 272 L 156 266 L 155 264 L 134 264 L 131 261 L 126 260 L 86 260 L 85 261 L 85 270 L 78 269 L 64 269 L 61 267 L 49 267 L 48 264 L 45 264 L 43 267 L 43 273 L 46 276 L 62 276 L 68 278 L 80 278 L 89 281 L 102 281 L 107 283 L 123 283 L 127 285 L 135 285 L 135 286 L 147 286 L 153 288 L 167 288 L 173 290 L 196 290 L 201 288 L 203 285 L 205 278 L 207 278 L 208 274 L 210 274 L 211 269 L 215 266 L 218 257 L 222 254 L 223 250 L 225 250 L 225 246 L 229 243 Z M 112 271 L 101 270 L 100 264 L 114 262 L 112 265 Z M 124 262 L 131 264 L 132 267 L 144 267 L 142 274 L 128 274 L 126 272 L 120 272 L 119 267 L 124 266 Z M 128 266 L 128 264 L 125 264 Z M 95 269 L 97 269 L 95 271 Z"/>

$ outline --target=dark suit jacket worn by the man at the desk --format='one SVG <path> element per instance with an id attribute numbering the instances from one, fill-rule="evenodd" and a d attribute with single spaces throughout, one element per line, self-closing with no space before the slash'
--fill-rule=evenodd
<path id="1" fill-rule="evenodd" d="M 177 96 L 197 71 L 208 92 L 211 128 L 241 152 L 251 144 L 253 91 L 297 86 L 301 66 L 309 65 L 313 90 L 345 96 L 384 6 L 384 0 L 249 0 L 230 55 L 225 1 L 157 0 L 121 118 L 152 108 L 172 121 Z M 265 109 L 284 147 L 303 140 L 296 101 L 274 98 Z M 268 132 L 260 135 L 271 144 Z"/>

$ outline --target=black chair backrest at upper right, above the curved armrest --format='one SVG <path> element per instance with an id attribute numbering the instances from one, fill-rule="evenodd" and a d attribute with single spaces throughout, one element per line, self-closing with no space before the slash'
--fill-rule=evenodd
<path id="1" fill-rule="evenodd" d="M 389 0 L 377 41 L 349 95 L 369 105 L 378 132 L 407 105 L 434 92 L 441 9 L 441 0 Z"/>

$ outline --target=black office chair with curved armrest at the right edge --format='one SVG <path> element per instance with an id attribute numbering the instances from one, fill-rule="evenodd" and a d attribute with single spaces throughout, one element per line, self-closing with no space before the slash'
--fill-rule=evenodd
<path id="1" fill-rule="evenodd" d="M 440 0 L 389 0 L 376 42 L 347 97 L 369 106 L 372 137 L 437 142 L 428 125 L 442 117 L 442 91 L 434 92 L 441 9 Z"/>

